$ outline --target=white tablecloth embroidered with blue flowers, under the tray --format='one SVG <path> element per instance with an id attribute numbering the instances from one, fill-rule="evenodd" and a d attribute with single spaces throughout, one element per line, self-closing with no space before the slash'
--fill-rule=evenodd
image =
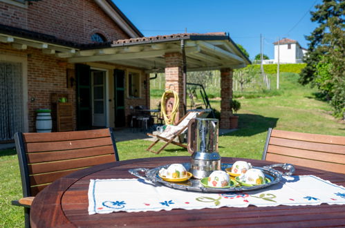
<path id="1" fill-rule="evenodd" d="M 89 214 L 321 203 L 345 205 L 345 188 L 314 175 L 284 177 L 266 189 L 236 193 L 182 191 L 141 179 L 91 180 L 88 188 Z"/>

